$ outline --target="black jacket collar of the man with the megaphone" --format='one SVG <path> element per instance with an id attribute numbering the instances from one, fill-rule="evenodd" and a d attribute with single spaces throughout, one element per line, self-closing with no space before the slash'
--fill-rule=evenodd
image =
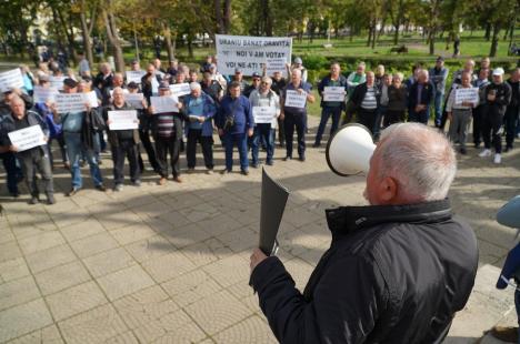
<path id="1" fill-rule="evenodd" d="M 450 219 L 448 199 L 404 205 L 340 206 L 326 210 L 332 234 L 349 234 L 358 230 L 389 222 L 438 222 Z"/>

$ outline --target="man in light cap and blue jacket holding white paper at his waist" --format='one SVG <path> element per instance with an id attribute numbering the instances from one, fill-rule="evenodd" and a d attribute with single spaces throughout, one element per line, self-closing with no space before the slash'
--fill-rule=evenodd
<path id="1" fill-rule="evenodd" d="M 204 72 L 206 73 L 206 72 Z M 187 136 L 188 146 L 186 158 L 188 160 L 188 173 L 194 171 L 197 164 L 197 142 L 202 146 L 207 173 L 213 172 L 213 124 L 217 113 L 214 101 L 202 92 L 198 82 L 190 83 L 191 93 L 184 97 L 184 117 L 188 119 Z"/>

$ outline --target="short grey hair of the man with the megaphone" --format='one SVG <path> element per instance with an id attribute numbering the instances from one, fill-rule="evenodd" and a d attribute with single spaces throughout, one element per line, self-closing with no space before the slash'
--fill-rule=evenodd
<path id="1" fill-rule="evenodd" d="M 457 159 L 448 139 L 421 123 L 397 123 L 381 133 L 380 178 L 391 176 L 409 199 L 437 201 L 448 195 Z"/>

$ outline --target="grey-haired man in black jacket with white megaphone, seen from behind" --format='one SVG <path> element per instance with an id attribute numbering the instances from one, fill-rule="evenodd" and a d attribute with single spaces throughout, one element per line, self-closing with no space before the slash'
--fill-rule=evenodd
<path id="1" fill-rule="evenodd" d="M 398 123 L 376 146 L 360 124 L 329 141 L 340 175 L 367 173 L 367 206 L 327 210 L 332 234 L 301 293 L 276 256 L 257 249 L 250 284 L 281 343 L 441 343 L 473 287 L 477 240 L 453 216 L 450 142 L 419 123 Z M 269 254 L 269 253 L 268 253 Z"/>

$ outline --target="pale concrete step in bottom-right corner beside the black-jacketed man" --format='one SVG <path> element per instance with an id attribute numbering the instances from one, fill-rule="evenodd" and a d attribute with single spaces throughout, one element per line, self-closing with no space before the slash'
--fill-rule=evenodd
<path id="1" fill-rule="evenodd" d="M 492 265 L 478 270 L 471 296 L 466 307 L 457 313 L 444 343 L 502 343 L 486 334 L 494 325 L 513 326 L 516 323 L 514 291 L 512 287 L 496 289 L 499 275 L 500 269 Z"/>

